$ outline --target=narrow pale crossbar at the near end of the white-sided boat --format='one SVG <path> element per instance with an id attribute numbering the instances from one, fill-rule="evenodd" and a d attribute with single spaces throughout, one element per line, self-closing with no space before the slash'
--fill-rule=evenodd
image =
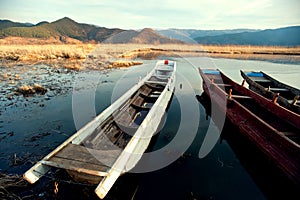
<path id="1" fill-rule="evenodd" d="M 85 173 L 94 176 L 107 176 L 108 173 L 106 171 L 109 169 L 109 167 L 87 164 L 57 157 L 51 158 L 51 161 L 42 160 L 41 163 L 51 167 L 72 170 L 78 173 Z"/>

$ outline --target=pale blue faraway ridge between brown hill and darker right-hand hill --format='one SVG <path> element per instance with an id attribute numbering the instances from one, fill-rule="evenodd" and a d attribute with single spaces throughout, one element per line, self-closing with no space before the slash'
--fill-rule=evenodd
<path id="1" fill-rule="evenodd" d="M 257 29 L 228 29 L 228 30 L 197 30 L 197 29 L 166 29 L 166 30 L 156 30 L 157 33 L 184 41 L 186 43 L 197 43 L 195 38 L 204 36 L 216 36 L 232 33 L 242 33 L 242 32 L 256 32 L 260 31 Z"/>

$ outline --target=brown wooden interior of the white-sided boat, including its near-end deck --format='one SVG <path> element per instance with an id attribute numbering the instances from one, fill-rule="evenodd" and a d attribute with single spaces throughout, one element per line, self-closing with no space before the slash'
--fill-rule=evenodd
<path id="1" fill-rule="evenodd" d="M 64 168 L 77 181 L 97 184 L 126 147 L 165 86 L 143 84 L 80 144 L 69 143 L 43 164 Z M 80 173 L 77 173 L 80 172 Z"/>

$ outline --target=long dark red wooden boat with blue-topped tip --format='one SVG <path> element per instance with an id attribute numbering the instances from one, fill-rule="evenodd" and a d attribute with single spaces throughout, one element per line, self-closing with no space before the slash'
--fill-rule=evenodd
<path id="1" fill-rule="evenodd" d="M 235 83 L 219 70 L 199 68 L 199 72 L 212 105 L 300 186 L 300 115 Z"/>

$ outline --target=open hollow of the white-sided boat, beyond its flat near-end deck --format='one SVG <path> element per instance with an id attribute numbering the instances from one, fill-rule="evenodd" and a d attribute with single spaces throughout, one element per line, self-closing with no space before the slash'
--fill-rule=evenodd
<path id="1" fill-rule="evenodd" d="M 145 83 L 82 143 L 97 150 L 123 149 L 147 116 L 164 86 Z"/>

